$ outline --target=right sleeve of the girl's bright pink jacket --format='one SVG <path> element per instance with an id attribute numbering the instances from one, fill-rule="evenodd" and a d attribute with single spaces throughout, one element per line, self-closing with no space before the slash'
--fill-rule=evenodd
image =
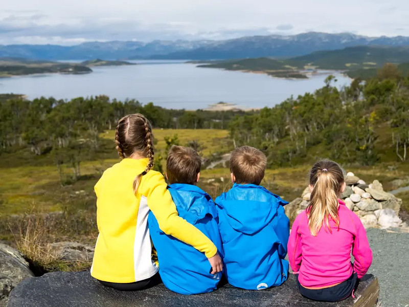
<path id="1" fill-rule="evenodd" d="M 353 214 L 353 213 L 352 213 Z M 355 225 L 354 243 L 352 245 L 352 255 L 354 256 L 354 271 L 358 278 L 362 278 L 367 274 L 369 267 L 372 264 L 372 250 L 369 247 L 367 232 L 359 220 L 359 217 L 354 214 L 353 223 Z"/>

